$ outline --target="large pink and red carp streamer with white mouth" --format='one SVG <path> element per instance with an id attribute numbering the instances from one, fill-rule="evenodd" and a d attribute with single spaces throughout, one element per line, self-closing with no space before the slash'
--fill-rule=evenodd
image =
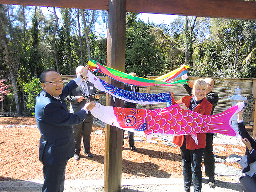
<path id="1" fill-rule="evenodd" d="M 197 133 L 220 133 L 239 137 L 232 128 L 232 116 L 242 110 L 244 102 L 213 116 L 183 110 L 178 105 L 154 110 L 102 106 L 91 110 L 102 122 L 131 132 L 144 132 L 147 140 L 154 135 L 188 135 L 198 144 Z"/>

